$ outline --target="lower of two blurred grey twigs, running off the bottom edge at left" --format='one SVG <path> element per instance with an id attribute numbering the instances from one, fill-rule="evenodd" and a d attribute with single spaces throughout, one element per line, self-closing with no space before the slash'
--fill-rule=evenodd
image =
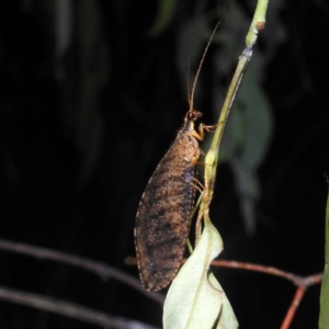
<path id="1" fill-rule="evenodd" d="M 84 322 L 101 326 L 103 328 L 116 329 L 156 329 L 155 327 L 132 321 L 120 317 L 111 317 L 103 313 L 69 303 L 63 299 L 44 297 L 37 294 L 22 293 L 0 286 L 0 299 L 26 305 L 43 310 L 48 310 L 63 316 L 68 316 Z"/>

